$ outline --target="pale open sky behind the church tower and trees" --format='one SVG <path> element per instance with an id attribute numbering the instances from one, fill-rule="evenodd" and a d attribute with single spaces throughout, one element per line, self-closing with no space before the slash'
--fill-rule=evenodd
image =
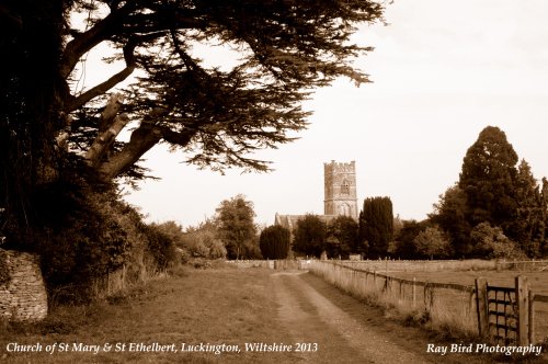
<path id="1" fill-rule="evenodd" d="M 124 198 L 148 221 L 186 228 L 243 194 L 255 223 L 272 225 L 275 213 L 323 214 L 323 163 L 354 160 L 358 206 L 388 196 L 395 215 L 421 220 L 488 125 L 505 132 L 535 178 L 548 177 L 547 14 L 544 0 L 396 0 L 388 25 L 362 26 L 354 38 L 375 47 L 356 60 L 373 83 L 341 79 L 317 90 L 300 138 L 255 155 L 272 172 L 220 175 L 159 145 L 142 164 L 161 180 L 125 189 Z"/>

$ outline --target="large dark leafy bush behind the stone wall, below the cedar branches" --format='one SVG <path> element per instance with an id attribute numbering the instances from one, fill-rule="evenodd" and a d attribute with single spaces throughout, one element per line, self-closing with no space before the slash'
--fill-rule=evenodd
<path id="1" fill-rule="evenodd" d="M 70 286 L 70 300 L 89 302 L 94 280 L 119 269 L 127 258 L 130 242 L 118 221 L 123 204 L 113 189 L 96 191 L 79 181 L 50 183 L 38 195 L 41 228 L 18 248 L 42 257 L 50 293 Z"/>

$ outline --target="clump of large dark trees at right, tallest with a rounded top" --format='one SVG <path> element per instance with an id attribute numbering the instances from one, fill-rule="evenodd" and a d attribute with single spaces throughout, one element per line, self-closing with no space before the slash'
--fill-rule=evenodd
<path id="1" fill-rule="evenodd" d="M 492 255 L 492 247 L 504 248 L 494 254 L 540 257 L 547 246 L 546 185 L 525 160 L 518 163 L 504 132 L 488 126 L 467 150 L 458 183 L 441 196 L 430 218 L 449 235 L 458 258 Z M 478 236 L 503 236 L 509 242 L 487 243 L 501 239 Z"/>

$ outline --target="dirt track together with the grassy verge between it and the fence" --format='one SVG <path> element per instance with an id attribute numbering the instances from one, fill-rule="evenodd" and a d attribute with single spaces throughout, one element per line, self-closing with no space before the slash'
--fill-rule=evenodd
<path id="1" fill-rule="evenodd" d="M 294 342 L 317 343 L 300 353 L 310 363 L 476 363 L 471 355 L 426 353 L 431 341 L 416 328 L 387 320 L 380 310 L 344 295 L 302 271 L 271 275 L 278 316 Z"/>

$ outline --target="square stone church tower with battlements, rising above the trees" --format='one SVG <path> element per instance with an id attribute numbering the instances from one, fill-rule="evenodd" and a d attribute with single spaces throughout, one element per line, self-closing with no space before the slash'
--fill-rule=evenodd
<path id="1" fill-rule="evenodd" d="M 324 215 L 350 216 L 357 221 L 356 164 L 323 163 L 324 172 Z"/>

